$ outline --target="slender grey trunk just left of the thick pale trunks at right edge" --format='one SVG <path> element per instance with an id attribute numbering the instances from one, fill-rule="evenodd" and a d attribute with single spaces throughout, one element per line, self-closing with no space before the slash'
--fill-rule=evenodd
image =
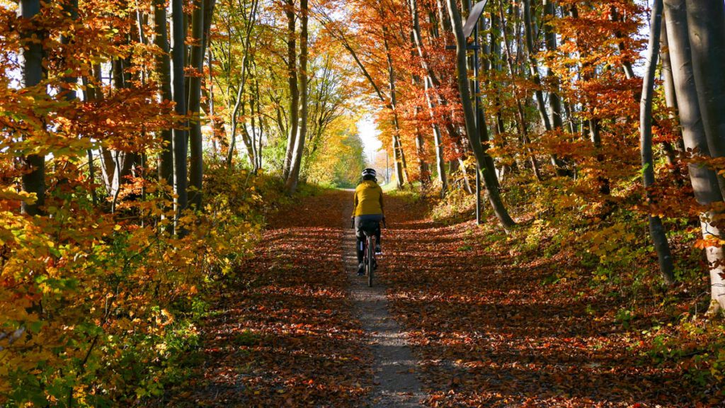
<path id="1" fill-rule="evenodd" d="M 645 64 L 646 75 L 642 81 L 642 99 L 639 102 L 639 148 L 642 152 L 642 179 L 645 184 L 648 205 L 655 203 L 655 197 L 653 197 L 651 190 L 655 184 L 655 163 L 652 155 L 652 97 L 660 46 L 662 8 L 662 0 L 653 0 L 650 44 Z M 655 252 L 660 264 L 660 273 L 667 285 L 674 285 L 674 263 L 662 220 L 659 216 L 650 212 L 649 224 L 650 237 L 652 237 L 652 242 L 655 245 Z"/>

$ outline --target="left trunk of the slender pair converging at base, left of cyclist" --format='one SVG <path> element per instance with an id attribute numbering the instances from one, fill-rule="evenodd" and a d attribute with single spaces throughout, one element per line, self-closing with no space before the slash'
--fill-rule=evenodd
<path id="1" fill-rule="evenodd" d="M 292 152 L 297 143 L 299 126 L 299 88 L 297 86 L 297 40 L 294 32 L 294 0 L 286 0 L 287 16 L 287 83 L 289 84 L 289 123 L 287 126 L 287 147 L 284 156 L 282 178 L 286 181 L 292 167 Z"/>

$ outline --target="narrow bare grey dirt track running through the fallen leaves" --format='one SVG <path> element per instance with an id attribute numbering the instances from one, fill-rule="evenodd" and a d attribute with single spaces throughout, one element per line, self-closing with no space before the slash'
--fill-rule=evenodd
<path id="1" fill-rule="evenodd" d="M 352 194 L 348 213 L 352 213 Z M 349 217 L 343 222 L 349 224 Z M 385 243 L 385 230 L 381 242 Z M 342 253 L 350 282 L 350 295 L 355 304 L 355 315 L 368 333 L 369 346 L 373 352 L 373 391 L 370 394 L 371 407 L 422 407 L 421 383 L 415 376 L 418 364 L 407 345 L 405 333 L 389 313 L 386 286 L 373 275 L 373 287 L 368 287 L 368 278 L 357 276 L 357 255 L 355 253 L 355 230 L 345 229 Z M 386 267 L 385 253 L 378 256 L 380 272 Z"/>

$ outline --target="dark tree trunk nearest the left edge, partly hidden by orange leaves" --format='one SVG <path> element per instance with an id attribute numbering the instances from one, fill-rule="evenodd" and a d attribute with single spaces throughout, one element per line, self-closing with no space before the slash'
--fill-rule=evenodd
<path id="1" fill-rule="evenodd" d="M 41 12 L 40 0 L 20 0 L 17 8 L 19 17 L 32 20 Z M 43 38 L 38 28 L 30 28 L 20 33 L 23 40 L 31 37 Z M 18 55 L 20 62 L 20 83 L 23 88 L 36 86 L 43 80 L 43 46 L 40 41 L 28 41 Z M 21 158 L 25 173 L 22 174 L 22 191 L 35 193 L 36 202 L 22 202 L 21 211 L 30 216 L 41 213 L 45 204 L 45 155 L 27 155 Z"/>

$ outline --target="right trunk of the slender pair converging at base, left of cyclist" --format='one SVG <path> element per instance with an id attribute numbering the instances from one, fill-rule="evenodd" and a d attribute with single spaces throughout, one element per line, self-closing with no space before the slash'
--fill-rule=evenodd
<path id="1" fill-rule="evenodd" d="M 301 107 L 299 114 L 299 135 L 294 142 L 294 151 L 292 152 L 292 163 L 289 176 L 285 183 L 285 189 L 288 195 L 293 195 L 297 190 L 299 182 L 299 169 L 302 167 L 302 155 L 305 153 L 305 141 L 307 139 L 307 115 L 309 109 L 307 107 L 307 0 L 299 1 L 299 105 Z"/>

